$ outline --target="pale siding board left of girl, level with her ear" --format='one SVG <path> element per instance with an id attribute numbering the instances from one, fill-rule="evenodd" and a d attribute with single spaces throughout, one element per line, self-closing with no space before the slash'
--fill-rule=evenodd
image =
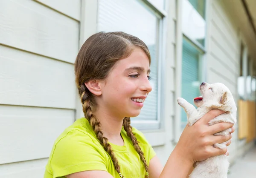
<path id="1" fill-rule="evenodd" d="M 0 104 L 76 108 L 74 66 L 0 46 Z"/>

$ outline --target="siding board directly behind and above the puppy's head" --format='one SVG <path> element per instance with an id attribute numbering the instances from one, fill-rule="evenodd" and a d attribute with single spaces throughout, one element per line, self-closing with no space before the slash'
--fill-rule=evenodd
<path id="1" fill-rule="evenodd" d="M 225 76 L 222 76 L 220 73 L 221 72 L 216 71 L 216 69 L 209 68 L 208 82 L 209 83 L 217 83 L 217 82 L 223 83 L 230 89 L 230 92 L 232 93 L 232 95 L 235 95 L 237 93 L 236 83 L 234 81 L 230 81 L 228 78 L 226 78 Z"/>

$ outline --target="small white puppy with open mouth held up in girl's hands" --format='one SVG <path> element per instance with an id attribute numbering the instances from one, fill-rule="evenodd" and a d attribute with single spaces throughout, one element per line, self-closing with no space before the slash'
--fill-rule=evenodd
<path id="1" fill-rule="evenodd" d="M 192 126 L 203 115 L 211 109 L 220 109 L 225 111 L 224 114 L 217 116 L 209 122 L 213 125 L 220 122 L 236 123 L 236 103 L 230 90 L 222 83 L 201 83 L 200 92 L 202 97 L 194 99 L 198 109 L 188 103 L 183 98 L 177 98 L 178 104 L 183 107 L 187 114 L 189 126 Z M 231 129 L 218 132 L 215 135 L 228 135 Z M 214 144 L 216 148 L 226 148 L 227 142 Z M 189 175 L 189 178 L 227 178 L 229 162 L 226 155 L 219 155 L 208 158 L 204 161 L 197 162 L 195 169 Z"/>

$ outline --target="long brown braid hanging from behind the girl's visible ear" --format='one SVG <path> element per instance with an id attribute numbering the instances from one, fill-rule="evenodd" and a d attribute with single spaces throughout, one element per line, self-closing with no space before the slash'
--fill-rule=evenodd
<path id="1" fill-rule="evenodd" d="M 114 167 L 115 167 L 116 171 L 119 173 L 119 176 L 121 178 L 125 178 L 120 172 L 120 167 L 119 167 L 118 161 L 115 157 L 114 152 L 111 149 L 111 145 L 108 143 L 108 138 L 105 138 L 103 136 L 103 133 L 100 129 L 100 122 L 98 121 L 96 116 L 93 115 L 93 113 L 92 113 L 91 94 L 90 94 L 90 92 L 86 92 L 86 90 L 88 90 L 88 89 L 86 88 L 86 86 L 84 84 L 82 84 L 80 87 L 80 90 L 79 90 L 79 94 L 81 93 L 81 103 L 83 104 L 84 116 L 85 116 L 85 118 L 87 118 L 87 120 L 90 123 L 90 126 L 93 128 L 93 131 L 95 132 L 96 137 L 99 140 L 99 143 L 103 146 L 105 151 L 108 152 L 108 154 L 110 155 L 110 157 L 113 161 Z"/>

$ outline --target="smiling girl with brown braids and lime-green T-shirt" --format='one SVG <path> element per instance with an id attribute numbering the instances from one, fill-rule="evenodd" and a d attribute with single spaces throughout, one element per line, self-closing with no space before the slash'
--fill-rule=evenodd
<path id="1" fill-rule="evenodd" d="M 185 178 L 196 161 L 227 151 L 212 145 L 231 136 L 213 134 L 232 125 L 209 126 L 223 113 L 212 110 L 186 126 L 161 166 L 143 134 L 130 125 L 152 90 L 150 60 L 145 43 L 124 32 L 100 32 L 85 41 L 75 62 L 84 118 L 55 141 L 44 178 Z"/>

